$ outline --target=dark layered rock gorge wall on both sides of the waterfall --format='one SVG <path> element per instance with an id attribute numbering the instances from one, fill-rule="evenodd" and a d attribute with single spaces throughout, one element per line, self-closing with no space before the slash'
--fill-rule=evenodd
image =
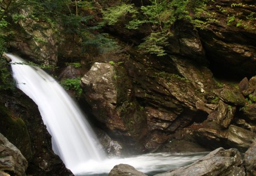
<path id="1" fill-rule="evenodd" d="M 93 3 L 94 8 L 81 12 L 94 16 L 88 25 L 102 19 L 100 9 L 119 2 Z M 80 78 L 82 92 L 77 96 L 77 89 L 69 88 L 71 95 L 79 99 L 94 126 L 122 145 L 122 154 L 217 147 L 245 152 L 256 137 L 255 3 L 210 1 L 206 10 L 212 16 L 203 13 L 199 18 L 212 19 L 204 26 L 176 20 L 168 45 L 163 45 L 166 54 L 160 57 L 138 49 L 153 27 L 125 28 L 129 13 L 97 31 L 109 33 L 121 46 L 112 52 L 82 52 L 80 36 L 56 35 L 51 24 L 31 18 L 18 23 L 10 19 L 15 37 L 8 50 L 38 64 L 59 66 L 50 71 L 59 80 Z M 65 64 L 74 62 L 81 67 Z M 1 91 L 0 113 L 6 120 L 1 120 L 0 132 L 29 161 L 28 173 L 71 174 L 51 151 L 51 137 L 37 107 L 16 91 Z"/>

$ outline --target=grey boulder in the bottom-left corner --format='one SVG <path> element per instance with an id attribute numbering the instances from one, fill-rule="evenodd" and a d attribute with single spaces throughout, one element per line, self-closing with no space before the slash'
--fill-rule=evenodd
<path id="1" fill-rule="evenodd" d="M 26 175 L 28 162 L 19 149 L 0 133 L 0 170 L 18 176 Z"/>

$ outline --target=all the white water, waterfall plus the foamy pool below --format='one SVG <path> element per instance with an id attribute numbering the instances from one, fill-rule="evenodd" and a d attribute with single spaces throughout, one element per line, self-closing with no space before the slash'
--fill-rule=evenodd
<path id="1" fill-rule="evenodd" d="M 11 58 L 16 86 L 38 105 L 47 130 L 52 135 L 53 151 L 76 175 L 107 175 L 117 164 L 129 164 L 153 175 L 188 165 L 206 153 L 151 153 L 126 158 L 106 158 L 86 117 L 71 97 L 42 69 L 28 66 L 13 54 Z M 19 63 L 19 64 L 17 64 Z"/>

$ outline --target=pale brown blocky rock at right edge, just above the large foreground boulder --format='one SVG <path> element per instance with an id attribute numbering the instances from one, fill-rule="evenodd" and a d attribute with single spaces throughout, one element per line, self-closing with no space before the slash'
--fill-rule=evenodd
<path id="1" fill-rule="evenodd" d="M 256 139 L 256 134 L 244 128 L 234 125 L 229 126 L 228 143 L 234 148 L 245 152 L 250 147 L 251 143 Z"/>

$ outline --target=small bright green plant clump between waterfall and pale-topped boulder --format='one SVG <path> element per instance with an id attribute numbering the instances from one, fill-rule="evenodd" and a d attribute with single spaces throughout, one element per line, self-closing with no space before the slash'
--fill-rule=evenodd
<path id="1" fill-rule="evenodd" d="M 81 80 L 79 78 L 64 79 L 63 81 L 60 82 L 60 84 L 63 85 L 63 87 L 66 90 L 75 91 L 76 98 L 80 98 L 80 96 L 82 95 L 82 88 L 81 88 L 80 82 Z"/>

